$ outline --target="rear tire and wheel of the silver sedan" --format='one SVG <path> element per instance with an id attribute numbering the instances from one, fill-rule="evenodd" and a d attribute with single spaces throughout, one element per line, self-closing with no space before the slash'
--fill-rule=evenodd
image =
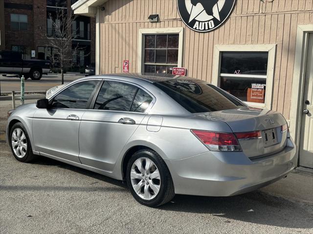
<path id="1" fill-rule="evenodd" d="M 146 167 L 147 163 L 150 166 Z M 152 150 L 134 153 L 127 164 L 126 181 L 134 198 L 145 206 L 160 206 L 175 195 L 172 176 L 165 162 Z"/>

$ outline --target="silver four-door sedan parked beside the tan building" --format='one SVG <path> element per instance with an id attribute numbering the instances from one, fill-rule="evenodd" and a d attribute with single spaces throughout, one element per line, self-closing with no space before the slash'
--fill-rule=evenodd
<path id="1" fill-rule="evenodd" d="M 194 78 L 80 78 L 8 114 L 17 160 L 46 156 L 124 180 L 151 207 L 175 194 L 243 194 L 297 165 L 281 114 Z"/>

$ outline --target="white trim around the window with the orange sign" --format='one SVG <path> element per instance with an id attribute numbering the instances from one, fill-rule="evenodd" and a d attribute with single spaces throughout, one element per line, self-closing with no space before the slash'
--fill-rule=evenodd
<path id="1" fill-rule="evenodd" d="M 223 51 L 243 51 L 243 52 L 268 52 L 268 71 L 266 80 L 265 103 L 246 102 L 249 106 L 258 108 L 272 108 L 273 82 L 276 44 L 263 45 L 215 45 L 213 51 L 213 70 L 211 83 L 219 86 L 220 84 L 220 68 L 221 68 L 221 52 Z M 255 76 L 256 77 L 256 76 Z"/>

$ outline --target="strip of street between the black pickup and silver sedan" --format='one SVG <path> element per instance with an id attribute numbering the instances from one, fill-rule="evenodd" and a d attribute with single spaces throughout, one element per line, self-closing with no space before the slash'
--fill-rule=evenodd
<path id="1" fill-rule="evenodd" d="M 65 74 L 64 82 L 68 83 L 82 77 L 85 77 L 85 75 Z M 40 80 L 32 80 L 30 78 L 25 80 L 25 91 L 45 91 L 59 84 L 61 84 L 61 75 L 43 75 Z M 0 86 L 1 92 L 21 91 L 21 79 L 18 77 L 3 77 L 0 75 Z"/>

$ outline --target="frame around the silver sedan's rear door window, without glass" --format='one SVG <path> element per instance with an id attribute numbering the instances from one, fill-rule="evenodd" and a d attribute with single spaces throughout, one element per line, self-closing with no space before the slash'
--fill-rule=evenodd
<path id="1" fill-rule="evenodd" d="M 147 94 L 149 94 L 153 99 L 152 101 L 150 102 L 148 108 L 145 110 L 145 112 L 132 112 L 132 111 L 114 111 L 114 110 L 96 110 L 96 109 L 93 109 L 94 108 L 94 104 L 95 104 L 95 101 L 96 99 L 98 98 L 98 95 L 99 95 L 99 92 L 100 92 L 100 89 L 103 85 L 103 83 L 105 81 L 114 81 L 114 82 L 120 82 L 120 83 L 126 83 L 126 84 L 130 84 L 130 85 L 133 85 L 139 89 L 142 89 L 143 91 L 145 91 Z M 136 95 L 136 94 L 135 94 Z M 134 95 L 134 97 L 135 97 Z M 134 102 L 134 98 L 133 98 L 133 101 L 132 101 L 132 105 L 133 105 L 133 102 Z M 105 78 L 105 79 L 102 79 L 102 82 L 100 82 L 100 85 L 98 86 L 97 90 L 96 90 L 96 93 L 94 94 L 92 100 L 91 100 L 91 103 L 90 103 L 90 106 L 89 106 L 89 111 L 106 111 L 106 112 L 116 112 L 116 113 L 134 113 L 134 114 L 148 114 L 149 111 L 151 110 L 151 108 L 153 107 L 153 105 L 156 103 L 156 97 L 151 93 L 149 92 L 147 89 L 143 88 L 142 86 L 138 85 L 138 84 L 135 84 L 133 82 L 129 82 L 129 81 L 124 81 L 124 80 L 118 80 L 118 79 L 112 79 L 112 78 Z"/>

